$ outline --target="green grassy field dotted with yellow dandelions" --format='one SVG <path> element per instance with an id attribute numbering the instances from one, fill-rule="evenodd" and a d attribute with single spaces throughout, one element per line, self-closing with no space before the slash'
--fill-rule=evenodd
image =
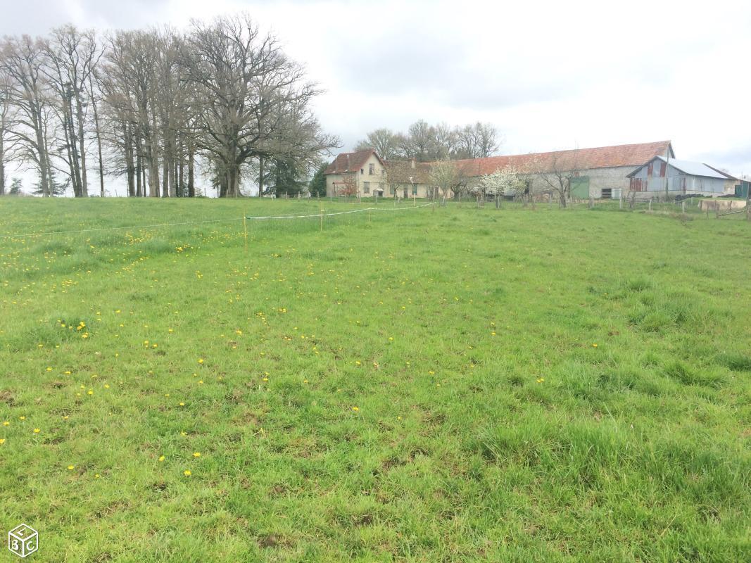
<path id="1" fill-rule="evenodd" d="M 749 222 L 380 206 L 0 200 L 32 561 L 748 560 Z"/>

